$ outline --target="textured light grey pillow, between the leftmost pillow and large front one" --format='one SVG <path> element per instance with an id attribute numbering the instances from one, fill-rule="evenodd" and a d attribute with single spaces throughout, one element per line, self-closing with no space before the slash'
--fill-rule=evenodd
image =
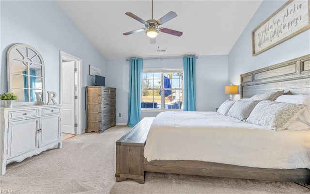
<path id="1" fill-rule="evenodd" d="M 237 118 L 239 120 L 246 120 L 254 107 L 259 103 L 259 100 L 238 100 L 232 108 L 228 111 L 227 116 Z"/>

